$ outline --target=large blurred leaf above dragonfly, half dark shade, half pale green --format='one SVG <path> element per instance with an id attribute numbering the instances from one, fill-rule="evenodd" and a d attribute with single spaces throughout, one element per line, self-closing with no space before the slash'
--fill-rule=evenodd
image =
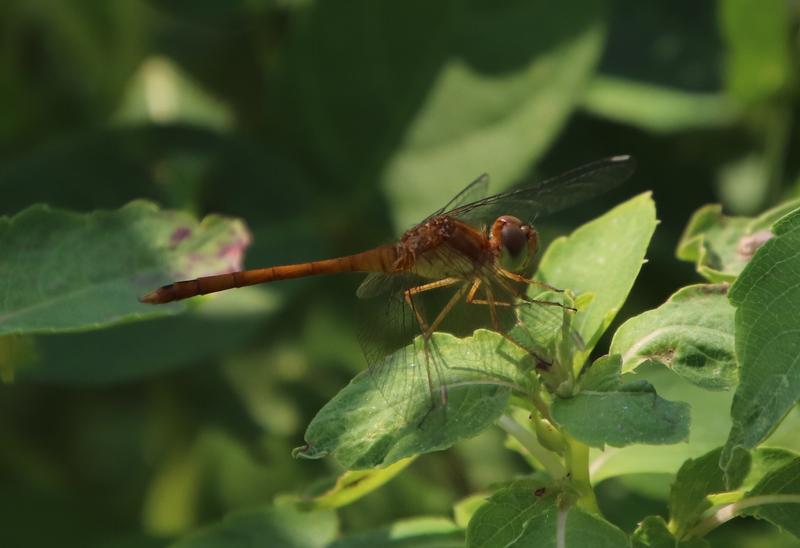
<path id="1" fill-rule="evenodd" d="M 284 93 L 303 146 L 339 180 L 380 180 L 405 227 L 483 172 L 526 173 L 590 77 L 605 16 L 585 0 L 314 2 L 292 25 Z"/>

